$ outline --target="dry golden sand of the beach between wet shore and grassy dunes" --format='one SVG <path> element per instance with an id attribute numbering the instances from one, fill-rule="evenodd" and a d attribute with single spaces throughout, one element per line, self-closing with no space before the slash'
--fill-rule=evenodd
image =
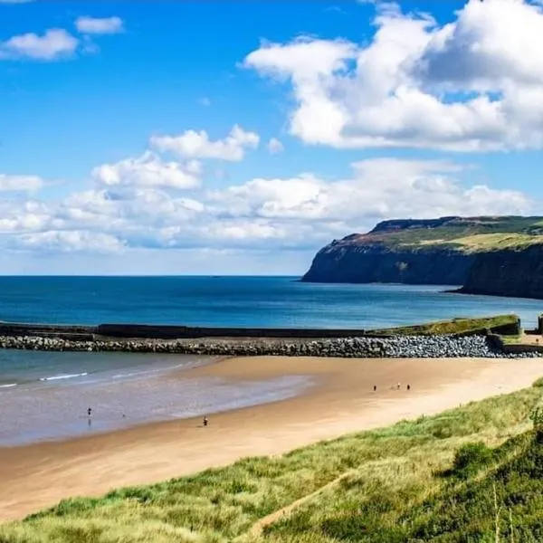
<path id="1" fill-rule="evenodd" d="M 206 428 L 200 419 L 189 419 L 0 448 L 0 519 L 19 519 L 70 496 L 100 495 L 244 456 L 279 454 L 342 433 L 509 393 L 543 376 L 543 362 L 248 357 L 183 372 L 184 377 L 234 381 L 282 375 L 313 376 L 316 384 L 289 400 L 211 414 Z M 401 389 L 393 389 L 398 382 Z"/>

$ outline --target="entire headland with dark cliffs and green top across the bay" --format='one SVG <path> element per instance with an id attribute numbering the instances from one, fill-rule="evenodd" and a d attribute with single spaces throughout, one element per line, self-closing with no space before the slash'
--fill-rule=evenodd
<path id="1" fill-rule="evenodd" d="M 394 220 L 333 241 L 302 281 L 450 284 L 543 297 L 542 256 L 543 217 Z"/>

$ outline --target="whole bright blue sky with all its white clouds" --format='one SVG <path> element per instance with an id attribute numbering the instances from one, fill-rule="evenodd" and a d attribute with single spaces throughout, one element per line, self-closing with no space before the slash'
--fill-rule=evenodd
<path id="1" fill-rule="evenodd" d="M 287 273 L 541 214 L 536 2 L 0 0 L 0 273 Z"/>

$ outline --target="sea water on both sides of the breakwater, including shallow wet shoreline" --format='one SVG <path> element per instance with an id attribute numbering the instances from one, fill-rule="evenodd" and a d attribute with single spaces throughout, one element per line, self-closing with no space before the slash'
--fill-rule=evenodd
<path id="1" fill-rule="evenodd" d="M 516 313 L 529 328 L 543 312 L 541 300 L 446 292 L 454 288 L 297 277 L 0 277 L 0 320 L 375 329 Z M 213 414 L 279 401 L 314 385 L 310 376 L 235 383 L 190 371 L 216 361 L 0 349 L 0 446 Z"/>

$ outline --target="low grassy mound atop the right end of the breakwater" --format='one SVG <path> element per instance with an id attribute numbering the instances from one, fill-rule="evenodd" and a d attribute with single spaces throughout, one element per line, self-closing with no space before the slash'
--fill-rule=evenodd
<path id="1" fill-rule="evenodd" d="M 369 330 L 369 333 L 385 336 L 441 336 L 444 334 L 484 334 L 487 331 L 519 336 L 520 319 L 517 315 L 498 315 L 478 319 L 438 320 L 414 326 Z"/>

